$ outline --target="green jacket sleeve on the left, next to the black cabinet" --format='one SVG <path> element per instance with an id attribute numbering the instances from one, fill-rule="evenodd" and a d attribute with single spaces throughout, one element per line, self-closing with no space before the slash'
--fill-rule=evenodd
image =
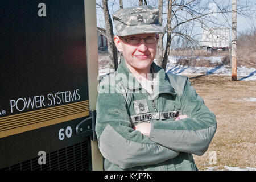
<path id="1" fill-rule="evenodd" d="M 96 134 L 104 158 L 125 169 L 157 164 L 179 155 L 131 128 L 125 98 L 118 86 L 105 79 L 98 89 L 96 104 Z"/>

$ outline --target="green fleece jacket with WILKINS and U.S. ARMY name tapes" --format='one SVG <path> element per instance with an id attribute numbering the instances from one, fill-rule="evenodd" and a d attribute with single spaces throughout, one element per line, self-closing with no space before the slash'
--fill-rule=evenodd
<path id="1" fill-rule="evenodd" d="M 130 73 L 124 60 L 98 88 L 96 134 L 105 170 L 196 170 L 192 154 L 203 155 L 217 128 L 188 77 L 167 74 L 152 63 L 153 93 Z M 175 121 L 179 115 L 188 118 Z M 150 136 L 133 126 L 150 122 Z"/>

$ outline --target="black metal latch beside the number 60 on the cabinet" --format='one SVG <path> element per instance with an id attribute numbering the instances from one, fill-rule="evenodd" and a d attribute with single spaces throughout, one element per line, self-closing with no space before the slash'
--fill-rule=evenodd
<path id="1" fill-rule="evenodd" d="M 96 110 L 89 111 L 89 118 L 82 120 L 76 126 L 76 134 L 82 135 L 84 137 L 91 136 L 93 141 L 97 140 L 95 133 L 95 124 L 96 124 Z"/>

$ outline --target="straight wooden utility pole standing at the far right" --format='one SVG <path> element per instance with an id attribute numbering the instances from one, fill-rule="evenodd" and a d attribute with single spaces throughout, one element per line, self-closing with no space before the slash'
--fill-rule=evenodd
<path id="1" fill-rule="evenodd" d="M 232 0 L 232 81 L 237 81 L 237 0 Z"/>

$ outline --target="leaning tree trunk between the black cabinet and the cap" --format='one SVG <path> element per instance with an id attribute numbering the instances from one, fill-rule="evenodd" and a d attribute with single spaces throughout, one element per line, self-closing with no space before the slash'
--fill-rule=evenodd
<path id="1" fill-rule="evenodd" d="M 102 8 L 104 13 L 105 19 L 105 27 L 106 27 L 106 38 L 108 42 L 108 53 L 109 53 L 109 65 L 110 65 L 110 72 L 117 70 L 118 68 L 118 58 L 117 58 L 117 48 L 115 47 L 114 43 L 114 33 L 113 33 L 113 26 L 112 20 L 109 14 L 108 8 L 108 0 L 102 0 Z"/>

